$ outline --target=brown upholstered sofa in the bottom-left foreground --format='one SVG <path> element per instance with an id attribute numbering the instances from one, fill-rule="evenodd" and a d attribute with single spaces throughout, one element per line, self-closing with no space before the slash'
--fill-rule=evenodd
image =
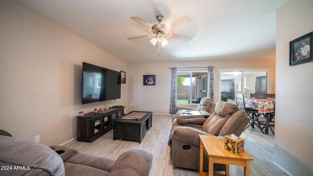
<path id="1" fill-rule="evenodd" d="M 9 136 L 0 131 L 1 176 L 148 176 L 152 166 L 145 149 L 128 149 L 113 160 Z"/>

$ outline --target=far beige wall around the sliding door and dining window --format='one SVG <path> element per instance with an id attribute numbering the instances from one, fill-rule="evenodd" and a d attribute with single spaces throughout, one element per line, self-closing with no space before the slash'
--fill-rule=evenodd
<path id="1" fill-rule="evenodd" d="M 250 60 L 208 60 L 193 62 L 159 62 L 130 64 L 128 80 L 129 108 L 131 110 L 150 110 L 155 113 L 169 113 L 171 96 L 171 69 L 170 67 L 198 67 L 214 66 L 214 101 L 219 97 L 219 70 L 220 69 L 245 69 L 245 68 L 270 68 L 272 70 L 271 92 L 275 92 L 275 59 L 250 59 Z M 156 86 L 143 86 L 143 75 L 156 75 Z M 167 107 L 167 109 L 163 109 Z"/>

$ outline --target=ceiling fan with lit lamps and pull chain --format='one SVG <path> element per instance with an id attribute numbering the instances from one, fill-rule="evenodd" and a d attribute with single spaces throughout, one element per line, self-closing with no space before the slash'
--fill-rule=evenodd
<path id="1" fill-rule="evenodd" d="M 156 43 L 158 43 L 158 45 L 159 45 L 158 46 L 158 48 L 159 48 L 158 55 L 160 55 L 161 45 L 163 48 L 163 46 L 168 44 L 167 39 L 172 36 L 172 31 L 169 30 L 165 24 L 161 23 L 164 19 L 164 16 L 163 15 L 156 15 L 156 21 L 158 23 L 156 23 L 152 26 L 150 23 L 145 22 L 144 20 L 140 19 L 139 17 L 131 17 L 131 19 L 134 20 L 135 22 L 138 22 L 139 24 L 141 24 L 145 28 L 147 28 L 148 35 L 135 36 L 135 37 L 127 38 L 127 39 L 128 40 L 134 40 L 134 39 L 145 38 L 145 37 L 149 36 L 151 38 L 151 40 L 150 40 L 151 44 L 156 45 Z M 172 26 L 174 28 L 175 25 L 178 26 L 182 23 L 190 22 L 190 21 L 191 20 L 189 17 L 184 16 L 184 17 L 180 18 L 179 20 L 177 20 L 176 22 L 173 22 Z M 178 35 L 175 35 L 175 36 L 178 36 Z"/>

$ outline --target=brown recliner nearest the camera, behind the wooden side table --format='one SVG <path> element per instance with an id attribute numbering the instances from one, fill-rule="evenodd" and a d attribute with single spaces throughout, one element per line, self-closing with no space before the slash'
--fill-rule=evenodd
<path id="1" fill-rule="evenodd" d="M 217 102 L 215 111 L 205 120 L 202 129 L 173 125 L 168 141 L 171 147 L 172 162 L 175 167 L 199 170 L 200 137 L 202 135 L 240 136 L 249 118 L 237 105 L 224 101 Z M 203 159 L 203 170 L 208 170 L 207 157 Z M 214 171 L 224 171 L 225 165 L 214 164 Z"/>

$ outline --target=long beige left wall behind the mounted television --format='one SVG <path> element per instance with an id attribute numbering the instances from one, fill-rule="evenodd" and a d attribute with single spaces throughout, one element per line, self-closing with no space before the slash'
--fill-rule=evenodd
<path id="1" fill-rule="evenodd" d="M 0 129 L 40 143 L 61 144 L 77 136 L 82 62 L 128 72 L 127 64 L 37 15 L 14 0 L 0 0 Z M 128 84 L 121 99 L 127 105 Z M 106 101 L 112 106 L 114 101 Z"/>

